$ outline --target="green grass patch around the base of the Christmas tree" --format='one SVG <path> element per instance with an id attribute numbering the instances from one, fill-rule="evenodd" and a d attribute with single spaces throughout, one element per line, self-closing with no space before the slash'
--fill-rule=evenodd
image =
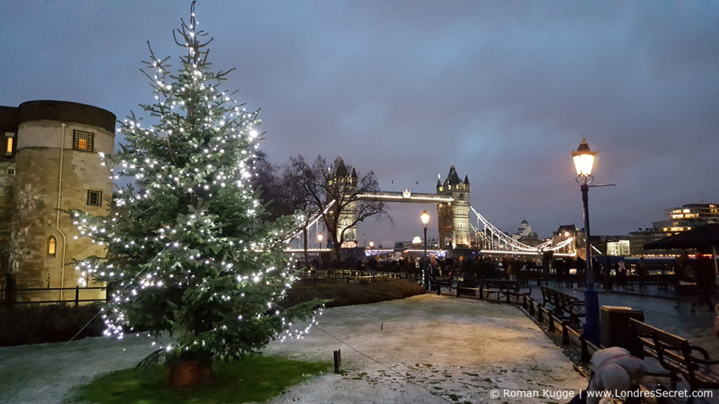
<path id="1" fill-rule="evenodd" d="M 331 369 L 331 362 L 300 362 L 282 357 L 256 355 L 229 362 L 214 362 L 214 380 L 208 385 L 170 387 L 169 370 L 157 364 L 124 369 L 96 377 L 75 387 L 65 403 L 159 404 L 262 402 Z"/>

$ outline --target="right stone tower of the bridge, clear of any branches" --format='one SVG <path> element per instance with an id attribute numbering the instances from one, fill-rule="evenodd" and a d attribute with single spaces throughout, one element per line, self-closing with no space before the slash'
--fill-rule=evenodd
<path id="1" fill-rule="evenodd" d="M 459 180 L 453 164 L 444 183 L 437 178 L 437 194 L 454 199 L 452 202 L 437 203 L 439 248 L 470 248 L 470 179 L 465 174 L 464 181 Z"/>

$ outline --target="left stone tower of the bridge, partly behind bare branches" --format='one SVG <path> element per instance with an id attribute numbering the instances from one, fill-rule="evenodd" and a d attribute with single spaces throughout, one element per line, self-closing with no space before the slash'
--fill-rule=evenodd
<path id="1" fill-rule="evenodd" d="M 334 184 L 334 185 L 333 185 Z M 344 243 L 347 247 L 357 246 L 357 225 L 354 224 L 354 220 L 357 218 L 357 201 L 354 201 L 354 194 L 357 192 L 357 171 L 352 167 L 352 174 L 349 174 L 347 167 L 344 165 L 344 160 L 339 160 L 337 170 L 334 173 L 334 177 L 330 177 L 328 180 L 328 189 L 336 189 L 337 195 L 343 201 L 352 199 L 351 202 L 347 203 L 342 211 L 339 212 L 339 221 L 337 222 L 337 239 L 341 239 L 342 231 L 344 231 Z M 337 188 L 334 188 L 334 187 Z M 334 198 L 334 196 L 330 197 Z"/>

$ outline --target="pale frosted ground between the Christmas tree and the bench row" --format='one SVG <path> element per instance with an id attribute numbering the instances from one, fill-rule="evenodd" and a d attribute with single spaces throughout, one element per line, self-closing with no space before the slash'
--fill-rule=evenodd
<path id="1" fill-rule="evenodd" d="M 268 353 L 331 359 L 342 373 L 270 403 L 567 403 L 587 380 L 518 307 L 433 294 L 326 311 Z"/>

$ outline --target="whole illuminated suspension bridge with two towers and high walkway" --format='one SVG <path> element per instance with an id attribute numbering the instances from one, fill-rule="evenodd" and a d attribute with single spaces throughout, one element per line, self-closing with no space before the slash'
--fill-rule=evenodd
<path id="1" fill-rule="evenodd" d="M 346 193 L 354 193 L 356 188 L 357 174 L 354 169 L 349 174 L 344 162 L 340 162 L 334 181 L 342 181 L 343 190 Z M 359 193 L 355 196 L 357 200 L 383 201 L 388 203 L 434 203 L 437 206 L 437 229 L 439 231 L 440 250 L 457 248 L 475 248 L 487 254 L 520 254 L 538 255 L 542 252 L 552 251 L 559 256 L 573 256 L 576 254 L 573 237 L 554 237 L 537 246 L 523 244 L 513 239 L 505 232 L 485 219 L 477 209 L 470 203 L 470 180 L 464 175 L 464 180 L 459 178 L 454 165 L 449 168 L 444 181 L 437 179 L 436 193 L 413 193 L 409 189 L 401 191 L 377 191 Z M 321 219 L 328 214 L 330 207 L 335 201 L 329 201 L 322 211 L 317 211 L 308 220 L 306 229 L 299 229 L 290 239 L 299 239 L 305 231 L 314 229 L 319 232 Z M 329 213 L 331 214 L 331 212 Z M 349 203 L 340 212 L 340 220 L 337 225 L 338 236 L 344 232 L 344 242 L 357 245 L 357 226 L 352 225 L 357 217 L 357 203 Z M 472 223 L 472 217 L 476 219 L 476 225 Z M 337 237 L 339 239 L 339 237 Z M 313 238 L 310 238 L 313 240 Z M 288 240 L 289 241 L 289 240 Z M 301 241 L 300 241 L 301 243 Z M 329 251 L 308 247 L 308 251 Z M 304 248 L 288 248 L 288 252 L 302 251 Z"/>

